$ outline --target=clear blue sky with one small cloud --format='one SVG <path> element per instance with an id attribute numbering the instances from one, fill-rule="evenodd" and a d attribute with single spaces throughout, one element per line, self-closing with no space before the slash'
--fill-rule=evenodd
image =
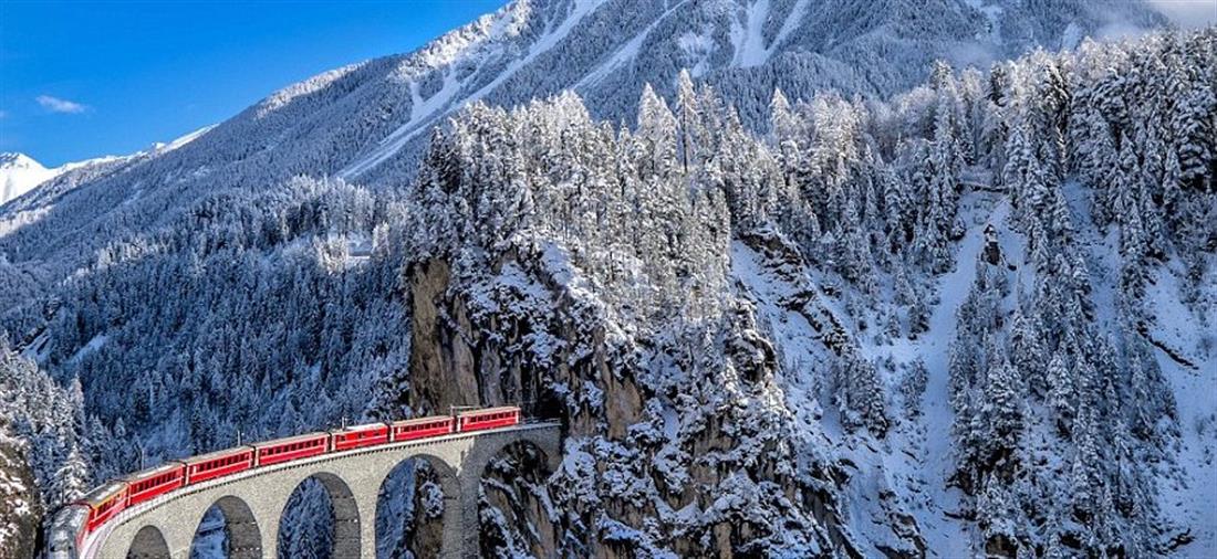
<path id="1" fill-rule="evenodd" d="M 46 166 L 139 151 L 504 4 L 0 0 L 0 151 Z"/>

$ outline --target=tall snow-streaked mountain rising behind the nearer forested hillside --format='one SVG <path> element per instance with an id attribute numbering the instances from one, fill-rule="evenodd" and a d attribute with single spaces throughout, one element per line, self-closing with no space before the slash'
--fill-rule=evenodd
<path id="1" fill-rule="evenodd" d="M 1041 45 L 1071 46 L 1114 23 L 1155 27 L 1126 1 L 518 0 L 410 55 L 314 77 L 267 97 L 198 141 L 113 175 L 85 179 L 6 208 L 40 215 L 0 238 L 10 261 L 55 260 L 56 275 L 124 231 L 144 230 L 218 190 L 296 175 L 337 175 L 398 187 L 417 166 L 431 126 L 470 101 L 511 106 L 574 87 L 591 113 L 634 114 L 646 83 L 663 95 L 689 67 L 765 124 L 769 92 L 818 89 L 887 95 L 920 81 L 935 58 L 999 60 Z M 75 183 L 75 181 L 72 181 Z M 45 215 L 44 215 L 45 214 Z"/>

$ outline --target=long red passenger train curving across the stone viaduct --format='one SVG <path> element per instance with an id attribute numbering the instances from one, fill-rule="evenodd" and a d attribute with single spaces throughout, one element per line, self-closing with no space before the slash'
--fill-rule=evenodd
<path id="1" fill-rule="evenodd" d="M 51 525 L 50 557 L 78 557 L 77 549 L 84 537 L 123 509 L 189 485 L 314 456 L 454 433 L 500 429 L 518 423 L 518 407 L 492 407 L 453 416 L 432 416 L 309 433 L 169 462 L 110 481 L 80 501 L 65 507 Z"/>

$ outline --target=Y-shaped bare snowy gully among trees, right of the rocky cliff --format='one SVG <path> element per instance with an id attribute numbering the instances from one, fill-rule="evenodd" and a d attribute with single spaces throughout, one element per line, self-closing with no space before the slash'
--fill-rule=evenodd
<path id="1" fill-rule="evenodd" d="M 922 396 L 921 414 L 907 420 L 876 445 L 867 436 L 849 435 L 837 423 L 834 406 L 826 400 L 826 371 L 830 357 L 824 345 L 813 338 L 817 329 L 808 322 L 808 307 L 821 312 L 843 312 L 834 309 L 804 270 L 778 265 L 742 242 L 733 244 L 733 273 L 757 303 L 757 314 L 783 356 L 783 389 L 786 405 L 795 411 L 800 424 L 823 431 L 832 440 L 835 452 L 858 464 L 860 479 L 852 487 L 854 510 L 852 526 L 875 544 L 890 544 L 879 519 L 887 514 L 873 496 L 894 491 L 901 507 L 915 513 L 918 529 L 926 540 L 930 557 L 970 557 L 971 538 L 965 521 L 953 516 L 961 493 L 948 487 L 947 479 L 954 469 L 950 427 L 954 412 L 948 397 L 948 346 L 955 335 L 955 312 L 971 288 L 976 261 L 983 244 L 983 230 L 993 225 L 1008 231 L 1005 220 L 1009 204 L 992 193 L 969 194 L 961 201 L 961 219 L 969 224 L 968 233 L 955 254 L 954 270 L 937 280 L 937 304 L 930 318 L 929 332 L 916 339 L 898 338 L 891 344 L 864 343 L 863 351 L 870 360 L 892 358 L 897 365 L 912 366 L 920 360 L 929 382 Z M 1002 235 L 1003 252 L 1021 255 L 1020 241 L 1014 233 Z M 809 303 L 795 306 L 792 300 Z M 841 315 L 845 316 L 845 315 Z M 857 337 L 867 340 L 868 337 Z M 890 393 L 896 394 L 899 378 L 888 379 Z M 814 427 L 812 427 L 814 425 Z M 875 530 L 863 526 L 875 525 Z M 879 554 L 879 549 L 874 549 Z"/>

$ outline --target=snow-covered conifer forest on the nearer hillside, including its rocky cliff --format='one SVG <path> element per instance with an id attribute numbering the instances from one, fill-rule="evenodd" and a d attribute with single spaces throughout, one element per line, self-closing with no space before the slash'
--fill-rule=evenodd
<path id="1" fill-rule="evenodd" d="M 483 480 L 486 557 L 1217 553 L 1217 29 L 925 74 L 477 102 L 410 180 L 219 190 L 0 316 L 0 495 L 518 402 L 566 454 Z"/>

